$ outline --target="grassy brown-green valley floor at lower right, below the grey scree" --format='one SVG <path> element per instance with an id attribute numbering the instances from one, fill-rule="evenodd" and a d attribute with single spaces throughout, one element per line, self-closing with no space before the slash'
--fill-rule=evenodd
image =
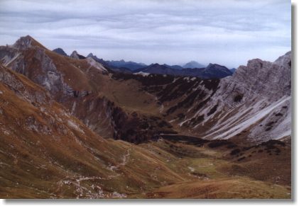
<path id="1" fill-rule="evenodd" d="M 218 145 L 215 142 L 206 143 L 198 147 L 162 140 L 143 145 L 160 154 L 165 164 L 179 173 L 184 181 L 156 188 L 139 197 L 290 198 L 288 146 L 281 147 L 281 142 L 267 142 L 241 149 L 232 142 L 224 142 Z M 233 146 L 233 149 L 228 149 Z"/>

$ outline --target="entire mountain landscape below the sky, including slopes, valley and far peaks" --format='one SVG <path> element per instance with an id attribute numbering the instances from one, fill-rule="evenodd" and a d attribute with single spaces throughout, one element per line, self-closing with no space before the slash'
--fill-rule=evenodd
<path id="1" fill-rule="evenodd" d="M 290 199 L 281 55 L 233 73 L 1 46 L 0 198 Z"/>

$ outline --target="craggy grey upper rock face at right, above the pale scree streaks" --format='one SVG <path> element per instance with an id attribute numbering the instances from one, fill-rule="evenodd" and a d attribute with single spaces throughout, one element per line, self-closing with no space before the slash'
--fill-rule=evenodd
<path id="1" fill-rule="evenodd" d="M 290 96 L 290 59 L 288 52 L 276 62 L 252 59 L 247 66 L 240 66 L 233 76 L 222 79 L 215 96 L 227 105 L 252 103 L 266 98 L 273 102 Z"/>

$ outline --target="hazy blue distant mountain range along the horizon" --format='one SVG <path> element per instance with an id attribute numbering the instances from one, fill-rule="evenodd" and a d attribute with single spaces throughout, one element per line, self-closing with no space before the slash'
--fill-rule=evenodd
<path id="1" fill-rule="evenodd" d="M 57 48 L 53 50 L 60 55 L 67 56 L 67 54 L 61 49 Z M 96 55 L 89 53 L 87 57 L 79 55 L 77 51 L 73 51 L 70 55 L 73 59 L 85 59 L 91 57 L 95 61 L 102 64 L 104 67 L 108 67 L 112 71 L 126 73 L 126 74 L 138 74 L 139 72 L 148 74 L 168 74 L 173 76 L 196 76 L 202 79 L 219 79 L 234 74 L 236 69 L 227 69 L 227 67 L 219 64 L 209 64 L 207 67 L 195 61 L 184 64 L 183 67 L 180 65 L 168 65 L 168 64 L 150 64 L 146 65 L 137 62 L 126 62 L 124 59 L 120 61 L 107 61 L 98 58 Z"/>

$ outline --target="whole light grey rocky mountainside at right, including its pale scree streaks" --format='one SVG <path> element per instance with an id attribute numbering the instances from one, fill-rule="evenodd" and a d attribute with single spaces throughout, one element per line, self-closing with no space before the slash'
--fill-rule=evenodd
<path id="1" fill-rule="evenodd" d="M 283 139 L 291 134 L 291 53 L 275 62 L 252 59 L 218 89 L 194 117 L 204 117 L 192 130 L 207 139 L 245 137 L 253 142 Z M 212 115 L 208 115 L 216 108 Z M 207 129 L 206 125 L 210 125 Z M 202 130 L 205 130 L 202 133 Z M 246 135 L 242 135 L 246 134 Z"/>

